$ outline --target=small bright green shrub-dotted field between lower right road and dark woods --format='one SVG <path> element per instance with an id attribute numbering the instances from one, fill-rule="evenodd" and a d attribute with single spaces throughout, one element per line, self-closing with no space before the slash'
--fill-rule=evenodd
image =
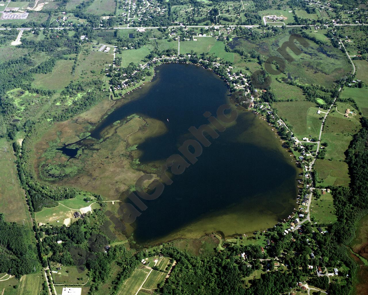
<path id="1" fill-rule="evenodd" d="M 331 193 L 326 192 L 316 199 L 312 197 L 311 202 L 311 218 L 317 223 L 334 223 L 337 216 L 334 214 L 335 206 L 333 205 L 333 197 Z"/>

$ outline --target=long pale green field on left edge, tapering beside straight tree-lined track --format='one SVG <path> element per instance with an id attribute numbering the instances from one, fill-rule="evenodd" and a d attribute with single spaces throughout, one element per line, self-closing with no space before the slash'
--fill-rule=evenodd
<path id="1" fill-rule="evenodd" d="M 6 149 L 6 152 L 5 152 Z M 13 147 L 6 139 L 0 139 L 0 166 L 3 173 L 0 174 L 0 213 L 4 214 L 8 222 L 17 222 L 31 228 L 28 208 L 20 186 L 15 166 Z"/>

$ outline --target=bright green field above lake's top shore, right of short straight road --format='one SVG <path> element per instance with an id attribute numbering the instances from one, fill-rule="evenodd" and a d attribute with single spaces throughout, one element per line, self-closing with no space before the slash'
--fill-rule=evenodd
<path id="1" fill-rule="evenodd" d="M 215 37 L 194 37 L 198 41 L 180 42 L 180 53 L 191 53 L 191 51 L 201 54 L 202 52 L 216 55 L 229 62 L 234 62 L 234 53 L 225 51 L 225 44 L 217 41 Z"/>

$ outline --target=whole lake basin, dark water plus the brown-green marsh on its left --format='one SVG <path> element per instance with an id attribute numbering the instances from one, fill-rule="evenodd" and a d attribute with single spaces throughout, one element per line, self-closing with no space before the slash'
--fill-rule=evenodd
<path id="1" fill-rule="evenodd" d="M 202 67 L 164 64 L 153 80 L 118 101 L 104 101 L 57 123 L 35 144 L 42 181 L 121 200 L 143 174 L 159 167 L 229 103 L 226 83 Z M 127 227 L 142 245 L 177 238 L 223 236 L 270 228 L 296 206 L 300 170 L 268 123 L 237 107 L 238 118 L 204 147 L 198 162 L 174 176 L 162 195 Z M 118 205 L 109 205 L 113 212 Z"/>

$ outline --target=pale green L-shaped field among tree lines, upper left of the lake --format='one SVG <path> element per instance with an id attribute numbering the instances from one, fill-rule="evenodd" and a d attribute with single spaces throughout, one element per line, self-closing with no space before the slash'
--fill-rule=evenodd
<path id="1" fill-rule="evenodd" d="M 35 87 L 42 87 L 49 90 L 61 91 L 73 79 L 71 73 L 74 60 L 60 59 L 56 62 L 51 73 L 35 74 L 33 85 Z"/>

